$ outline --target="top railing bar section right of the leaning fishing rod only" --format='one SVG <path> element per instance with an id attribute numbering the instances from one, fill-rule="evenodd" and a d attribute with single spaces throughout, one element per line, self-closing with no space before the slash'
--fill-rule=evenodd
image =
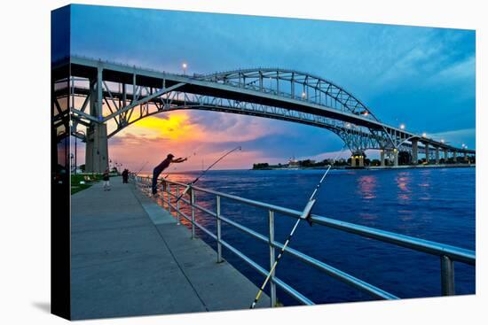
<path id="1" fill-rule="evenodd" d="M 429 240 L 392 233 L 386 230 L 360 226 L 346 221 L 337 221 L 315 214 L 311 215 L 311 221 L 322 226 L 339 229 L 351 234 L 378 239 L 385 243 L 396 244 L 415 251 L 423 251 L 437 256 L 448 256 L 451 259 L 469 265 L 476 265 L 476 254 L 474 251 L 448 244 L 440 244 Z"/>

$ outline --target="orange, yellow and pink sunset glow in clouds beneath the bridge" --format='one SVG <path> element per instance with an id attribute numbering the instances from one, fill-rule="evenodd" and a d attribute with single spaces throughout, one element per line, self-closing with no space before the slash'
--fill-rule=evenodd
<path id="1" fill-rule="evenodd" d="M 216 124 L 201 123 L 201 115 Z M 137 171 L 146 161 L 142 173 L 151 173 L 170 152 L 189 157 L 184 164 L 169 167 L 168 172 L 201 170 L 236 143 L 256 140 L 265 135 L 279 134 L 267 120 L 217 112 L 166 112 L 149 116 L 124 128 L 109 140 L 109 156 L 122 163 L 122 168 Z M 221 161 L 216 169 L 247 169 L 256 161 L 274 161 L 265 152 L 250 151 L 243 146 Z"/>

